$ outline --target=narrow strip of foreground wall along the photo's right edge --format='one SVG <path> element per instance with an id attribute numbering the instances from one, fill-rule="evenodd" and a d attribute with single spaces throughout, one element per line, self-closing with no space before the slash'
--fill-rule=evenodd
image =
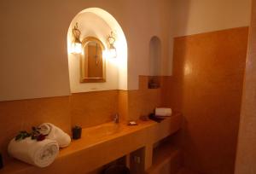
<path id="1" fill-rule="evenodd" d="M 256 1 L 253 0 L 247 65 L 241 103 L 236 174 L 256 173 Z"/>

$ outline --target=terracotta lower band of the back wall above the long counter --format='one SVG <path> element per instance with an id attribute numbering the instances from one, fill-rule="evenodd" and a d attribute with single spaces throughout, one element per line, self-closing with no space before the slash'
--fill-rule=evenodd
<path id="1" fill-rule="evenodd" d="M 18 131 L 30 131 L 32 125 L 50 122 L 70 133 L 73 125 L 99 125 L 111 121 L 114 113 L 119 113 L 123 121 L 148 115 L 161 105 L 161 89 L 148 90 L 148 77 L 139 79 L 139 90 L 107 90 L 0 102 L 0 153 L 7 159 L 10 139 Z"/>

